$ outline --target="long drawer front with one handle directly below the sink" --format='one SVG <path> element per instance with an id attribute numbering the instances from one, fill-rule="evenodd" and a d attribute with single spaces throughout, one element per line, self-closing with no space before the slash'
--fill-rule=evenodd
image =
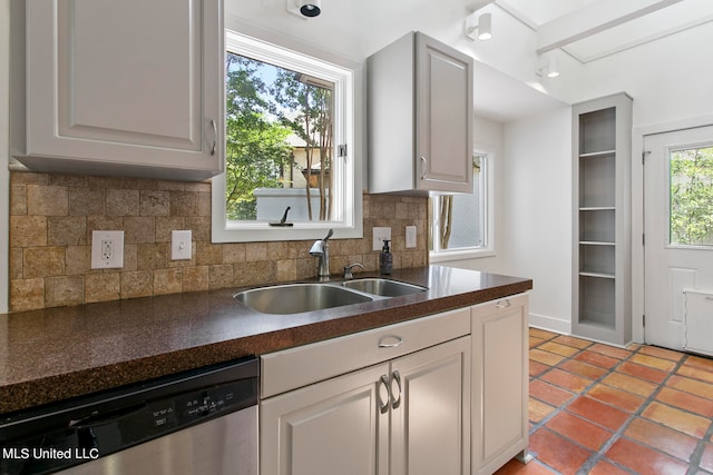
<path id="1" fill-rule="evenodd" d="M 470 309 L 431 315 L 261 357 L 262 397 L 353 372 L 470 334 Z"/>

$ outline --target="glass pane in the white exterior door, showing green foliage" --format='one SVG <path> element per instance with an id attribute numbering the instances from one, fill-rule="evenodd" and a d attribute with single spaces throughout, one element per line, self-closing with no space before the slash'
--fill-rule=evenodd
<path id="1" fill-rule="evenodd" d="M 670 243 L 713 245 L 713 147 L 672 151 Z"/>

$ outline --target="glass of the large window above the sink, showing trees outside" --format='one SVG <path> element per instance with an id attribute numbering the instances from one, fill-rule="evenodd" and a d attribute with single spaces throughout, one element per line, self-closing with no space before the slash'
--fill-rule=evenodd
<path id="1" fill-rule="evenodd" d="M 329 220 L 333 85 L 231 52 L 226 71 L 227 219 Z"/>

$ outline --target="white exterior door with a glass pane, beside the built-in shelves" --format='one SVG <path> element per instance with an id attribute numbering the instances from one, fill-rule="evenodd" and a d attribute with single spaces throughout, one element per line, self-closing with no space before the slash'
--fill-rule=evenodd
<path id="1" fill-rule="evenodd" d="M 713 352 L 713 127 L 644 147 L 646 343 Z"/>

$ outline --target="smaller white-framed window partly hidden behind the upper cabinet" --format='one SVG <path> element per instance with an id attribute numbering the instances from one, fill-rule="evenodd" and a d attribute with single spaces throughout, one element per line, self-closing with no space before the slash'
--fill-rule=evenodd
<path id="1" fill-rule="evenodd" d="M 473 154 L 472 195 L 429 198 L 431 261 L 492 254 L 490 159 Z"/>

